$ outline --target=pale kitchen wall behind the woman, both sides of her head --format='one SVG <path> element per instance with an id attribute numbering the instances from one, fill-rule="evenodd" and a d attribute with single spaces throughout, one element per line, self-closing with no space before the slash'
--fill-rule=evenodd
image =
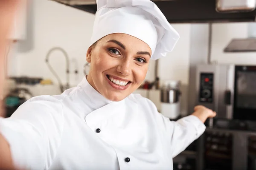
<path id="1" fill-rule="evenodd" d="M 84 76 L 82 68 L 90 45 L 94 15 L 51 0 L 31 2 L 27 21 L 27 40 L 17 42 L 14 50 L 10 52 L 9 75 L 50 78 L 56 82 L 47 68 L 45 57 L 50 48 L 61 47 L 67 51 L 71 61 L 71 85 L 76 85 Z M 158 72 L 162 82 L 169 79 L 182 82 L 183 115 L 188 114 L 189 59 L 197 55 L 207 58 L 207 41 L 204 37 L 208 36 L 208 28 L 207 24 L 203 25 L 203 28 L 199 28 L 195 24 L 172 24 L 180 33 L 180 40 L 174 51 L 159 60 Z M 222 52 L 232 38 L 246 36 L 247 23 L 213 24 L 211 60 L 219 63 L 256 63 L 254 62 L 256 58 L 253 58 L 256 56 L 255 53 L 224 54 Z M 53 52 L 49 62 L 56 69 L 61 80 L 66 82 L 63 54 L 60 51 Z M 151 61 L 146 77 L 150 81 L 154 80 L 154 64 L 155 62 Z M 79 70 L 78 74 L 74 73 L 76 68 Z"/>

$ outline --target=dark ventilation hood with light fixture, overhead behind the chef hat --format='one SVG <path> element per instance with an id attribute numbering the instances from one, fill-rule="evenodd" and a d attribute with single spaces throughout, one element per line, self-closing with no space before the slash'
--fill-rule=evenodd
<path id="1" fill-rule="evenodd" d="M 95 14 L 95 0 L 53 0 Z M 255 21 L 256 0 L 152 0 L 169 23 Z"/>

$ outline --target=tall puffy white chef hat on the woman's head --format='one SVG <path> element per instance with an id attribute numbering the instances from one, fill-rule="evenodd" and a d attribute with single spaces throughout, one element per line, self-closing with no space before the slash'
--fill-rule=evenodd
<path id="1" fill-rule="evenodd" d="M 96 0 L 97 12 L 91 44 L 113 33 L 136 37 L 151 48 L 151 59 L 172 51 L 179 34 L 150 0 Z"/>

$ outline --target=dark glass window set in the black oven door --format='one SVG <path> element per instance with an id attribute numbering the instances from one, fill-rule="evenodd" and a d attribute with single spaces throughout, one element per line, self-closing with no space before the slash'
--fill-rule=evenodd
<path id="1" fill-rule="evenodd" d="M 237 107 L 256 109 L 256 72 L 238 71 L 237 75 Z"/>

